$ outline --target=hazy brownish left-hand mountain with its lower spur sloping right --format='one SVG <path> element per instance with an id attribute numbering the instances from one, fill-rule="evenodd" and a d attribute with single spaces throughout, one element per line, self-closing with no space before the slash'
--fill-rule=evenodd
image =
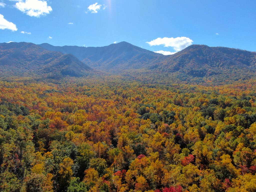
<path id="1" fill-rule="evenodd" d="M 91 68 L 73 55 L 49 51 L 33 43 L 0 44 L 0 72 L 4 75 L 83 76 Z"/>

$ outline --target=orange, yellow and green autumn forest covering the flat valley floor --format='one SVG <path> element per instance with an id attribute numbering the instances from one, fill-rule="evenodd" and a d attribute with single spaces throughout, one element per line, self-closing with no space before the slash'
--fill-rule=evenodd
<path id="1" fill-rule="evenodd" d="M 0 81 L 1 191 L 256 190 L 255 81 Z"/>

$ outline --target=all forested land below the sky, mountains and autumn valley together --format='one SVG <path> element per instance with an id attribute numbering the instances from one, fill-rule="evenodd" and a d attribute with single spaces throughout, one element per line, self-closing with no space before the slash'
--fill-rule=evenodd
<path id="1" fill-rule="evenodd" d="M 256 190 L 255 56 L 0 44 L 1 190 Z"/>

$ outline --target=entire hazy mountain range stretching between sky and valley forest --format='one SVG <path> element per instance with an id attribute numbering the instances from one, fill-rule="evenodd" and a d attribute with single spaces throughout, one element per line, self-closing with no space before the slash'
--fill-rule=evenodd
<path id="1" fill-rule="evenodd" d="M 255 65 L 256 52 L 206 45 L 164 56 L 127 42 L 104 47 L 0 44 L 0 73 L 7 76 L 80 77 L 102 71 L 135 79 L 234 81 L 255 77 Z"/>

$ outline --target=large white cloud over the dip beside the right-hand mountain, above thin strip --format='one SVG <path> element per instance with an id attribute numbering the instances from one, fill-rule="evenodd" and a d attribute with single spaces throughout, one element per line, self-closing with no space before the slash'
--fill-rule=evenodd
<path id="1" fill-rule="evenodd" d="M 176 37 L 176 38 L 160 38 L 154 39 L 150 42 L 146 42 L 150 46 L 153 45 L 164 45 L 164 47 L 172 47 L 175 51 L 181 51 L 182 49 L 185 49 L 189 45 L 192 45 L 192 40 L 188 37 Z"/>

